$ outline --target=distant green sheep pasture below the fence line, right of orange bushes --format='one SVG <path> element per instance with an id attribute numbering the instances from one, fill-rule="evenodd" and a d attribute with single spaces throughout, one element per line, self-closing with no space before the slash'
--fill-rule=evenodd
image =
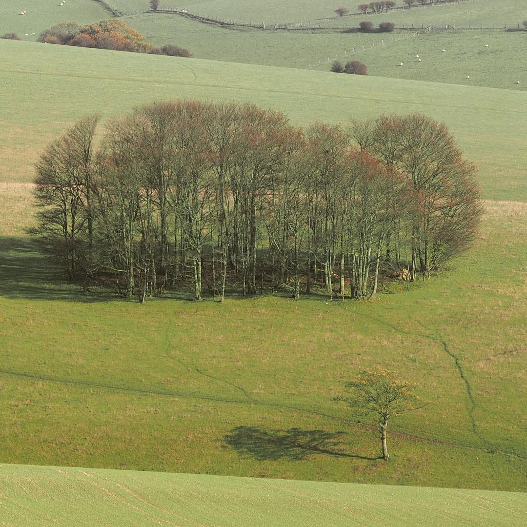
<path id="1" fill-rule="evenodd" d="M 321 61 L 323 64 L 317 69 L 329 71 L 338 55 L 343 62 L 365 62 L 369 75 L 527 90 L 523 67 L 527 63 L 527 47 L 523 45 L 522 32 L 439 30 L 411 36 L 403 31 L 386 35 L 331 30 L 233 30 L 162 13 L 127 16 L 123 20 L 146 35 L 152 44 L 177 44 L 191 50 L 197 58 L 296 68 Z M 407 38 L 398 40 L 402 37 Z M 385 45 L 380 45 L 382 41 Z M 376 46 L 372 47 L 374 43 Z M 446 53 L 441 52 L 444 48 Z M 421 63 L 416 54 L 422 58 Z M 404 67 L 399 67 L 401 62 Z M 465 79 L 467 75 L 470 80 Z M 516 84 L 518 80 L 520 84 Z"/>

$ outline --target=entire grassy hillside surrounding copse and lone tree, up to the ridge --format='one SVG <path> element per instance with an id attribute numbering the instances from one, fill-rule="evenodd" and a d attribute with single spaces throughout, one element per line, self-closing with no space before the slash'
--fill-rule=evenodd
<path id="1" fill-rule="evenodd" d="M 0 461 L 525 491 L 525 92 L 24 42 L 0 52 Z M 480 168 L 476 246 L 369 302 L 82 296 L 24 234 L 32 164 L 86 113 L 177 97 L 251 101 L 295 124 L 443 120 Z M 431 403 L 393 423 L 388 464 L 376 431 L 331 402 L 376 364 Z"/>

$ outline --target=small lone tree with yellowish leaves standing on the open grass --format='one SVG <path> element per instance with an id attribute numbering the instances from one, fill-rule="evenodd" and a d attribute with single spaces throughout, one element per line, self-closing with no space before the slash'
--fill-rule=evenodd
<path id="1" fill-rule="evenodd" d="M 361 372 L 357 380 L 346 384 L 346 388 L 351 388 L 353 395 L 339 396 L 334 401 L 344 401 L 350 408 L 375 416 L 383 459 L 388 461 L 390 455 L 386 444 L 386 428 L 389 418 L 422 408 L 424 404 L 411 391 L 411 383 L 397 380 L 391 372 L 380 368 Z"/>

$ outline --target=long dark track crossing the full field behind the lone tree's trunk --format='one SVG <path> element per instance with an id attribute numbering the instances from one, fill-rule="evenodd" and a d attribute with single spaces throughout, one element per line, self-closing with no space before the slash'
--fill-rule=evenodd
<path id="1" fill-rule="evenodd" d="M 240 399 L 229 399 L 229 398 L 222 398 L 222 397 L 212 397 L 212 396 L 200 395 L 200 394 L 167 392 L 167 391 L 154 390 L 154 389 L 132 388 L 132 387 L 127 387 L 127 386 L 114 386 L 111 384 L 93 383 L 93 382 L 88 382 L 85 380 L 61 379 L 57 377 L 50 377 L 47 375 L 35 375 L 35 374 L 30 374 L 30 373 L 14 372 L 14 371 L 3 370 L 3 369 L 0 369 L 0 374 L 12 375 L 15 377 L 22 377 L 22 378 L 27 378 L 27 379 L 32 379 L 32 380 L 41 380 L 41 381 L 52 382 L 52 383 L 70 384 L 74 386 L 86 386 L 90 388 L 102 388 L 102 389 L 112 390 L 116 392 L 138 393 L 138 394 L 145 394 L 145 395 L 161 395 L 164 397 L 178 397 L 181 399 L 196 399 L 198 401 L 208 401 L 208 402 L 215 402 L 215 403 L 241 404 L 241 405 L 248 405 L 248 406 L 254 405 L 254 406 L 264 406 L 268 408 L 279 408 L 279 409 L 289 410 L 292 412 L 302 412 L 302 413 L 307 413 L 311 415 L 317 415 L 319 417 L 334 419 L 335 421 L 339 421 L 341 423 L 358 425 L 362 428 L 365 428 L 366 430 L 377 431 L 377 427 L 374 425 L 368 425 L 368 424 L 365 424 L 359 421 L 357 422 L 350 421 L 349 419 L 346 419 L 345 417 L 340 417 L 338 415 L 325 414 L 324 412 L 319 412 L 311 408 L 302 408 L 299 406 L 258 401 L 257 399 L 240 400 Z M 482 446 L 454 443 L 454 442 L 449 442 L 449 441 L 441 441 L 441 440 L 437 440 L 431 437 L 406 434 L 404 432 L 398 432 L 396 430 L 392 430 L 391 433 L 392 435 L 395 435 L 397 437 L 402 437 L 405 439 L 418 441 L 422 443 L 430 443 L 430 444 L 441 445 L 441 446 L 452 446 L 455 448 L 470 448 L 471 450 L 477 450 L 477 451 L 482 451 L 482 452 L 487 452 L 487 453 L 509 455 L 509 456 L 518 458 L 522 461 L 527 461 L 527 457 L 522 456 L 520 454 L 516 454 L 515 452 L 509 452 L 505 450 L 492 450 L 490 452 L 488 448 L 484 448 Z"/>

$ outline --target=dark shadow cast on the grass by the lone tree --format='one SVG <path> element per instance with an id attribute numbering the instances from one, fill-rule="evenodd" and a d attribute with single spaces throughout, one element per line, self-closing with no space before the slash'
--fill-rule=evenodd
<path id="1" fill-rule="evenodd" d="M 224 438 L 226 447 L 234 448 L 240 455 L 250 456 L 258 461 L 303 460 L 310 455 L 326 454 L 337 457 L 355 457 L 375 460 L 348 454 L 341 450 L 339 441 L 346 432 L 325 432 L 323 430 L 263 430 L 258 426 L 237 426 Z"/>

